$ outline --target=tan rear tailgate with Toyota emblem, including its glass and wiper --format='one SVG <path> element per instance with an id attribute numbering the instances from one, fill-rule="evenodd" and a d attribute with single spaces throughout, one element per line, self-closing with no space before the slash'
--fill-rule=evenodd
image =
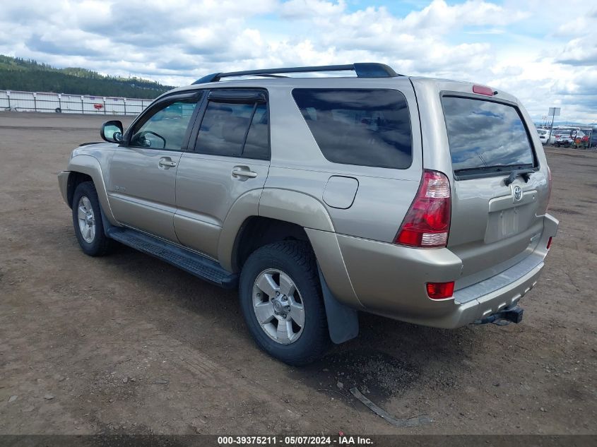
<path id="1" fill-rule="evenodd" d="M 516 105 L 444 95 L 442 107 L 454 169 L 448 248 L 463 261 L 458 286 L 466 287 L 533 251 L 543 231 L 548 170 Z"/>

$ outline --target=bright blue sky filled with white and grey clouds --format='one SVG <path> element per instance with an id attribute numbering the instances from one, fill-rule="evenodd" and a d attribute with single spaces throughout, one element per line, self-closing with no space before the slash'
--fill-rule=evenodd
<path id="1" fill-rule="evenodd" d="M 505 90 L 537 121 L 597 121 L 593 0 L 0 0 L 0 54 L 167 85 L 382 62 Z"/>

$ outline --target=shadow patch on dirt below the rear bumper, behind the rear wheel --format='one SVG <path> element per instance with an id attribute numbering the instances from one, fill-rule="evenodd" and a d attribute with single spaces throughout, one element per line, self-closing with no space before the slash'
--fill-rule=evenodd
<path id="1" fill-rule="evenodd" d="M 357 338 L 335 345 L 319 362 L 292 371 L 317 391 L 349 396 L 356 387 L 383 403 L 411 388 L 454 388 L 463 363 L 471 358 L 486 331 L 427 328 L 360 313 Z M 352 399 L 352 398 L 351 398 Z"/>

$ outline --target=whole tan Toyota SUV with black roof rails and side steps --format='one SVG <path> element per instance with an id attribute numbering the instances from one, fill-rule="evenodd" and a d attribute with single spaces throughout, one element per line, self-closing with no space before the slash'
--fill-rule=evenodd
<path id="1" fill-rule="evenodd" d="M 333 70 L 357 76 L 272 77 Z M 558 225 L 531 126 L 502 90 L 383 64 L 215 73 L 107 121 L 59 187 L 85 254 L 117 241 L 238 287 L 257 345 L 305 364 L 358 311 L 521 321 Z"/>

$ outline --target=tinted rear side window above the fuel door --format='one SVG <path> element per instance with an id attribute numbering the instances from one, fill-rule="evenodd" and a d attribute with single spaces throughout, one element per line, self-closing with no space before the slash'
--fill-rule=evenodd
<path id="1" fill-rule="evenodd" d="M 406 169 L 413 160 L 406 98 L 397 90 L 295 88 L 292 97 L 327 160 Z"/>

